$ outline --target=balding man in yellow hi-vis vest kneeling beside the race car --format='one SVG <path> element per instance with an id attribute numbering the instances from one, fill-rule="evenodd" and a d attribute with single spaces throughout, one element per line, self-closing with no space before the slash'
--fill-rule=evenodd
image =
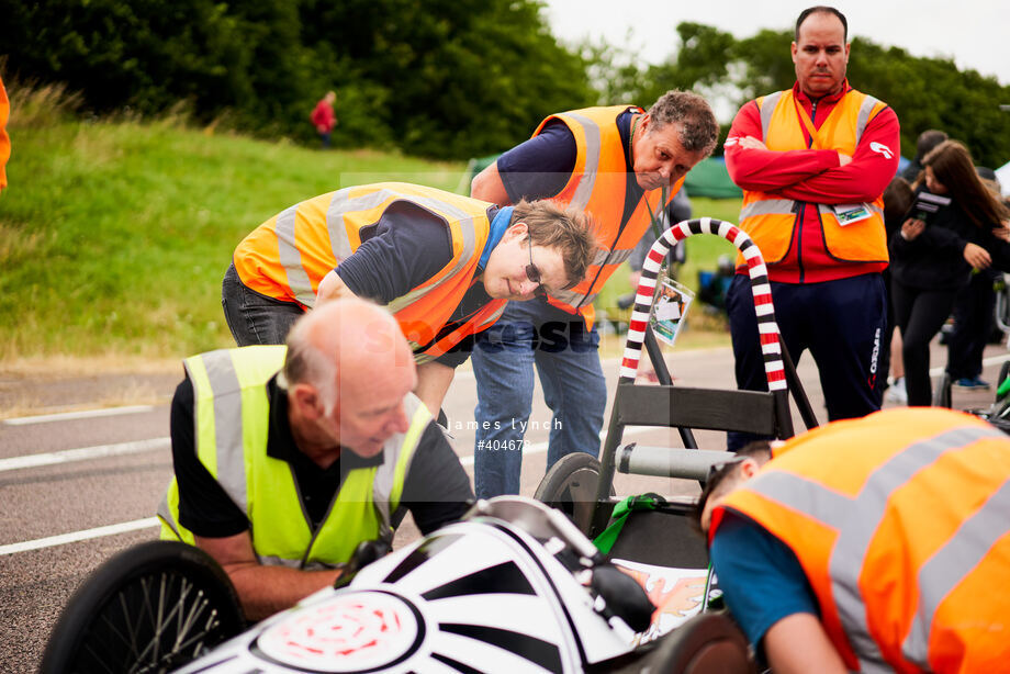
<path id="1" fill-rule="evenodd" d="M 473 498 L 411 393 L 406 339 L 370 302 L 308 312 L 287 346 L 211 351 L 184 366 L 161 537 L 210 553 L 251 620 L 332 585 L 359 543 L 391 539 L 401 508 L 428 532 Z"/>

